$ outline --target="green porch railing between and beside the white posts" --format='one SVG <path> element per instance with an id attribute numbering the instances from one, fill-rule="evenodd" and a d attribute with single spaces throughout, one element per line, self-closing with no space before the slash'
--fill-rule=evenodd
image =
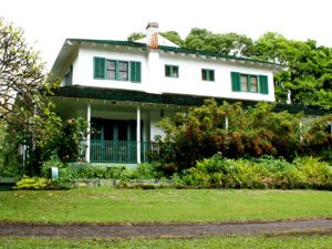
<path id="1" fill-rule="evenodd" d="M 141 142 L 141 160 L 147 162 L 152 151 L 151 142 Z M 137 142 L 91 141 L 90 160 L 92 163 L 137 163 Z"/>

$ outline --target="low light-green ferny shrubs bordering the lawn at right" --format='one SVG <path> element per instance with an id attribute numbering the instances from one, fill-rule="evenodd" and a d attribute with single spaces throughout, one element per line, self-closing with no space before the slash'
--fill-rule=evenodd
<path id="1" fill-rule="evenodd" d="M 331 168 L 313 157 L 299 157 L 291 164 L 270 156 L 228 159 L 215 155 L 196 165 L 175 174 L 176 181 L 198 187 L 332 189 Z"/>

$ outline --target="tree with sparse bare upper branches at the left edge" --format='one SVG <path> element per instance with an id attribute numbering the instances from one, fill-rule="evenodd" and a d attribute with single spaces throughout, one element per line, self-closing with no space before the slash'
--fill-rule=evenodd
<path id="1" fill-rule="evenodd" d="M 0 19 L 0 124 L 6 124 L 8 134 L 4 163 L 22 159 L 18 157 L 18 148 L 24 145 L 31 166 L 27 174 L 38 174 L 39 164 L 61 127 L 49 98 L 55 86 L 58 82 L 50 81 L 39 53 L 28 45 L 23 31 Z"/>

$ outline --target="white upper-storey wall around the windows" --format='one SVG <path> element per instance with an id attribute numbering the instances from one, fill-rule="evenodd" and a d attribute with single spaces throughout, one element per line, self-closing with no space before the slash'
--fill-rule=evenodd
<path id="1" fill-rule="evenodd" d="M 101 56 L 120 61 L 141 61 L 142 82 L 93 79 L 93 58 Z M 166 77 L 165 64 L 178 65 L 179 77 Z M 203 81 L 201 69 L 215 70 L 215 81 Z M 232 92 L 230 72 L 267 75 L 269 94 Z M 228 97 L 252 101 L 274 101 L 272 69 L 248 65 L 239 61 L 170 54 L 160 51 L 138 50 L 114 45 L 81 45 L 73 62 L 73 84 L 144 91 L 148 93 L 177 93 L 207 97 Z"/>

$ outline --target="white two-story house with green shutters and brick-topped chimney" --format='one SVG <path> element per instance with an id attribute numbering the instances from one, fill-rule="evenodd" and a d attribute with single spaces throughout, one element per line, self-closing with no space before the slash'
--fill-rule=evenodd
<path id="1" fill-rule="evenodd" d="M 91 163 L 146 160 L 165 116 L 205 98 L 273 102 L 273 63 L 185 50 L 148 23 L 137 42 L 65 40 L 52 68 L 62 79 L 53 96 L 63 118 L 84 117 Z"/>

